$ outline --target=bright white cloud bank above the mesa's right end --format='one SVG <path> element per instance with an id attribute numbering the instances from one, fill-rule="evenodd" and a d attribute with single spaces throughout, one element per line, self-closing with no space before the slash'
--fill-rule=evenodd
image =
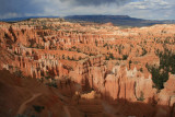
<path id="1" fill-rule="evenodd" d="M 138 2 L 130 2 L 122 7 L 124 11 L 130 10 L 129 15 L 142 17 L 142 19 L 175 19 L 172 10 L 175 10 L 175 4 L 172 0 L 143 0 Z"/>

